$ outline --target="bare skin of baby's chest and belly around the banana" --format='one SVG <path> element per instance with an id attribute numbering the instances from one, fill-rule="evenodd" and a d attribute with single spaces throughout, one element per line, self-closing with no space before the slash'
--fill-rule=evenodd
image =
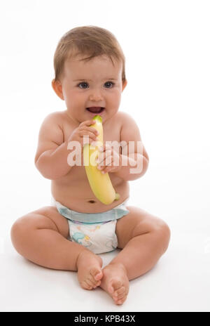
<path id="1" fill-rule="evenodd" d="M 68 141 L 74 130 L 75 128 L 73 128 L 71 124 L 63 124 L 64 141 Z M 119 144 L 119 152 L 121 153 L 120 126 L 118 126 L 118 124 L 113 124 L 113 126 L 109 128 L 103 126 L 103 141 L 104 145 L 106 145 L 106 142 L 109 142 L 114 148 L 117 148 Z M 83 207 L 84 211 L 94 212 L 96 209 L 98 209 L 98 211 L 103 211 L 103 204 L 94 197 L 90 188 L 85 166 L 83 164 L 83 152 L 78 150 L 77 153 L 79 152 L 80 155 L 77 154 L 76 157 L 75 154 L 73 155 L 73 151 L 71 151 L 72 156 L 76 159 L 76 164 L 71 168 L 69 173 L 62 178 L 52 181 L 52 195 L 57 201 L 62 201 L 66 207 L 71 207 L 71 209 L 80 211 L 81 207 Z M 109 174 L 109 177 L 116 192 L 120 191 L 123 200 L 128 193 L 127 184 L 125 184 L 125 182 L 123 183 L 123 180 L 115 174 Z M 94 203 L 94 207 L 92 203 Z"/>

